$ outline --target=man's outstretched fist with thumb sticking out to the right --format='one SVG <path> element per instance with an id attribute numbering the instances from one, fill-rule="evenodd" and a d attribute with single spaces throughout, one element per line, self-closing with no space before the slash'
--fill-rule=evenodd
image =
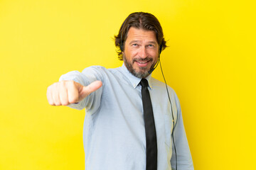
<path id="1" fill-rule="evenodd" d="M 59 81 L 48 86 L 46 96 L 52 106 L 68 106 L 70 103 L 82 101 L 101 86 L 102 81 L 94 81 L 88 86 L 82 86 L 75 81 Z"/>

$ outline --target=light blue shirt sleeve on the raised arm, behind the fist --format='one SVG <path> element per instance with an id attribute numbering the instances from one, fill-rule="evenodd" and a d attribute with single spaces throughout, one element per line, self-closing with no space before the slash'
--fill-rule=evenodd
<path id="1" fill-rule="evenodd" d="M 87 111 L 97 110 L 97 108 L 100 107 L 100 99 L 102 95 L 102 89 L 104 86 L 104 74 L 103 74 L 103 68 L 100 66 L 92 66 L 87 67 L 82 72 L 73 71 L 68 72 L 67 74 L 63 74 L 59 81 L 63 80 L 73 80 L 75 82 L 78 82 L 79 84 L 82 84 L 82 86 L 88 86 L 93 81 L 100 80 L 102 81 L 102 87 L 98 89 L 97 91 L 92 92 L 89 96 L 84 98 L 82 101 L 78 103 L 73 103 L 68 105 L 70 108 L 75 108 L 78 110 L 82 110 L 85 108 Z M 92 111 L 94 113 L 94 111 Z"/>

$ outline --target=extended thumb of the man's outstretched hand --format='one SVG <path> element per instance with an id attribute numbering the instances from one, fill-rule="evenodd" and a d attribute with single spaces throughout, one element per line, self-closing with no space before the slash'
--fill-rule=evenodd
<path id="1" fill-rule="evenodd" d="M 79 92 L 78 100 L 81 101 L 83 98 L 91 94 L 93 91 L 97 91 L 102 86 L 102 81 L 94 81 L 88 86 L 83 86 L 82 90 Z"/>

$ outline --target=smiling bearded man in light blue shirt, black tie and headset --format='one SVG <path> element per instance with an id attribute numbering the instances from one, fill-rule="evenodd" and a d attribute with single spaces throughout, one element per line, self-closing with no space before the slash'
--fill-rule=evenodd
<path id="1" fill-rule="evenodd" d="M 159 21 L 131 13 L 115 45 L 122 67 L 69 72 L 47 91 L 53 106 L 86 110 L 85 169 L 193 169 L 178 98 L 151 77 L 166 47 Z"/>

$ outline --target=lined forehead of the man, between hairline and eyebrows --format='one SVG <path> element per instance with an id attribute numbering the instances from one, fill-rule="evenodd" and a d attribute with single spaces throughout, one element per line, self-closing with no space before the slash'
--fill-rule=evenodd
<path id="1" fill-rule="evenodd" d="M 149 41 L 156 41 L 156 33 L 154 30 L 144 30 L 142 28 L 134 28 L 131 27 L 127 33 L 127 41 L 130 40 L 149 40 Z"/>

